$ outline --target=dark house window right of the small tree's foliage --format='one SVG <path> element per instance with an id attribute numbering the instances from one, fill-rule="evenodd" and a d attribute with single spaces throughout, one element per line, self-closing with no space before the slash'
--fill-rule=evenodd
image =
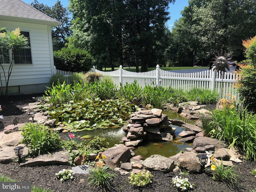
<path id="1" fill-rule="evenodd" d="M 29 32 L 21 31 L 20 33 L 28 38 L 28 48 L 14 52 L 14 64 L 32 64 Z"/>

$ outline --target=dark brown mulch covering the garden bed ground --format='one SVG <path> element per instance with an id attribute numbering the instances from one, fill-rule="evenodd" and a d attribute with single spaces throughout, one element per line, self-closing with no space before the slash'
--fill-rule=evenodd
<path id="1" fill-rule="evenodd" d="M 20 108 L 27 106 L 32 102 L 33 96 L 42 96 L 42 94 L 29 96 L 11 96 L 7 100 L 1 99 L 2 105 L 1 115 L 4 116 L 5 126 L 12 124 L 15 117 L 20 118 L 20 123 L 28 122 L 28 114 L 22 112 Z M 194 192 L 250 192 L 256 189 L 256 179 L 250 174 L 252 169 L 256 168 L 255 162 L 244 162 L 244 164 L 235 163 L 238 176 L 238 183 L 230 186 L 225 182 L 219 182 L 212 179 L 210 173 L 189 174 L 186 176 L 189 181 L 194 184 Z M 54 192 L 92 192 L 99 191 L 98 188 L 93 189 L 87 185 L 86 178 L 88 175 L 76 174 L 74 180 L 68 180 L 60 183 L 56 179 L 55 173 L 63 168 L 71 169 L 71 166 L 52 165 L 40 167 L 20 167 L 17 163 L 0 164 L 0 173 L 18 181 L 32 182 L 34 186 L 41 186 L 53 190 Z M 112 182 L 111 192 L 178 192 L 172 186 L 172 177 L 174 173 L 164 174 L 162 172 L 152 172 L 154 177 L 152 183 L 144 188 L 135 188 L 128 184 L 128 175 L 121 176 L 117 173 L 116 178 Z"/>

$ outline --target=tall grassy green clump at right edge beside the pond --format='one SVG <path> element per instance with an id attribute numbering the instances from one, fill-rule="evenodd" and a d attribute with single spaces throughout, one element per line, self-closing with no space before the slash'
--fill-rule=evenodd
<path id="1" fill-rule="evenodd" d="M 244 135 L 244 152 L 247 159 L 256 160 L 256 114 L 244 112 L 241 118 L 236 109 L 232 106 L 223 106 L 219 110 L 214 110 L 213 121 L 210 122 L 212 130 L 209 134 L 242 149 Z M 244 126 L 245 122 L 245 126 Z M 243 134 L 245 132 L 245 134 Z"/>

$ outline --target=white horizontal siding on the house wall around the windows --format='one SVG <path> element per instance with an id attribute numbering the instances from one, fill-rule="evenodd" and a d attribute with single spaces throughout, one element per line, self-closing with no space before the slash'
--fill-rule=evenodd
<path id="1" fill-rule="evenodd" d="M 9 86 L 47 84 L 54 74 L 50 26 L 2 20 L 0 20 L 0 26 L 7 30 L 14 30 L 19 27 L 20 31 L 29 32 L 30 35 L 32 64 L 15 64 L 12 68 Z M 8 72 L 10 64 L 3 64 L 3 66 Z M 4 75 L 2 70 L 0 73 L 1 76 Z"/>

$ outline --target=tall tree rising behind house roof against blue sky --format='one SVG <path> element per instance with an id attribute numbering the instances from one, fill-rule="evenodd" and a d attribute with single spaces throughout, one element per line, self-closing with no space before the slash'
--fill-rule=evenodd
<path id="1" fill-rule="evenodd" d="M 70 13 L 67 8 L 64 8 L 60 3 L 60 0 L 56 2 L 56 4 L 52 7 L 39 3 L 37 0 L 31 3 L 31 6 L 40 10 L 44 14 L 54 18 L 55 20 L 62 22 L 60 26 L 56 26 L 52 30 L 52 46 L 53 50 L 60 50 L 62 47 L 68 43 L 67 37 L 72 35 L 70 31 Z"/>

